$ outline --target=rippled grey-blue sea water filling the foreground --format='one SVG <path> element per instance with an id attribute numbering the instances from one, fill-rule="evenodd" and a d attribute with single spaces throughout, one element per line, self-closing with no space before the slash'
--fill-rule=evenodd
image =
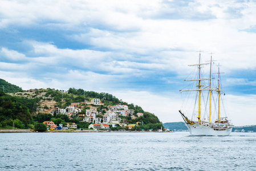
<path id="1" fill-rule="evenodd" d="M 256 133 L 0 133 L 0 170 L 256 170 Z"/>

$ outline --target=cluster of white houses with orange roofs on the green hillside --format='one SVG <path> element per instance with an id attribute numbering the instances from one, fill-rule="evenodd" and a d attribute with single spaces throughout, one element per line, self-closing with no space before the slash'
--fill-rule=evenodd
<path id="1" fill-rule="evenodd" d="M 82 107 L 84 107 L 86 104 L 90 105 L 91 107 L 90 109 L 86 109 L 86 113 L 83 113 Z M 122 119 L 122 116 L 130 116 L 131 119 L 136 119 L 144 115 L 143 113 L 135 113 L 133 109 L 128 109 L 127 105 L 117 104 L 107 106 L 108 109 L 103 109 L 102 112 L 97 110 L 97 107 L 95 107 L 96 105 L 103 105 L 100 99 L 92 99 L 91 101 L 83 101 L 80 103 L 71 103 L 71 105 L 66 108 L 54 107 L 48 110 L 48 112 L 50 112 L 52 115 L 54 115 L 54 113 L 60 113 L 67 115 L 70 118 L 78 116 L 79 120 L 82 122 L 92 123 L 88 126 L 88 129 L 94 130 L 109 130 L 110 127 L 116 128 L 117 125 L 131 130 L 133 127 L 139 124 L 143 125 L 143 121 L 138 121 L 136 124 L 128 124 L 127 120 L 124 118 Z M 63 125 L 58 127 L 53 121 L 44 121 L 43 123 L 51 129 L 77 129 L 77 125 L 75 123 L 67 123 L 67 127 L 63 127 Z M 144 129 L 141 129 L 141 131 L 144 131 Z M 149 129 L 149 131 L 152 131 L 152 129 Z M 159 132 L 161 131 L 162 129 L 159 129 Z M 164 129 L 164 131 L 166 131 L 166 129 Z"/>

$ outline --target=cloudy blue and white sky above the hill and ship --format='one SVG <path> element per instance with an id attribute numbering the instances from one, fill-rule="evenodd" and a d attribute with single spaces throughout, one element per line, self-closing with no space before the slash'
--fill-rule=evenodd
<path id="1" fill-rule="evenodd" d="M 225 72 L 232 123 L 255 125 L 255 9 L 230 0 L 0 0 L 0 78 L 22 89 L 108 92 L 176 122 L 201 50 Z"/>

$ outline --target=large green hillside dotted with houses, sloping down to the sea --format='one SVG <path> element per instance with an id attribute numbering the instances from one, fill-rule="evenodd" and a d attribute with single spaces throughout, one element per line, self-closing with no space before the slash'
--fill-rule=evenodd
<path id="1" fill-rule="evenodd" d="M 92 120 L 87 120 L 86 113 L 92 110 L 95 110 L 92 112 L 95 115 L 93 123 L 95 123 L 95 117 L 99 117 L 102 122 L 104 115 L 111 115 L 113 118 L 110 120 L 113 121 L 110 123 L 116 124 L 119 129 L 127 129 L 125 125 L 128 124 L 133 124 L 132 130 L 157 130 L 163 127 L 153 113 L 145 112 L 138 105 L 128 104 L 109 93 L 75 88 L 64 92 L 51 88 L 0 92 L 0 127 L 2 128 L 10 128 L 13 123 L 19 125 L 17 126 L 19 128 L 30 128 L 35 122 L 43 123 L 48 120 L 54 121 L 57 125 L 60 123 L 66 125 L 72 122 L 76 123 L 78 128 L 88 128 Z M 100 103 L 92 103 L 93 99 L 99 99 Z M 71 111 L 74 106 L 75 110 Z M 116 109 L 118 107 L 121 108 Z M 127 108 L 125 110 L 129 113 L 122 108 Z M 60 111 L 64 113 L 60 113 Z"/>

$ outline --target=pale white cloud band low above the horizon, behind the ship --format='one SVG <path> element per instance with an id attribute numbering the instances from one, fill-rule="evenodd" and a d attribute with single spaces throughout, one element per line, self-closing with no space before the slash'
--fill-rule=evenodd
<path id="1" fill-rule="evenodd" d="M 182 99 L 179 93 L 155 95 L 150 92 L 114 91 L 117 98 L 141 106 L 144 111 L 154 113 L 162 123 L 183 121 L 178 110 L 181 109 Z M 234 96 L 226 95 L 227 114 L 231 123 L 239 125 L 255 125 L 256 95 Z"/>

